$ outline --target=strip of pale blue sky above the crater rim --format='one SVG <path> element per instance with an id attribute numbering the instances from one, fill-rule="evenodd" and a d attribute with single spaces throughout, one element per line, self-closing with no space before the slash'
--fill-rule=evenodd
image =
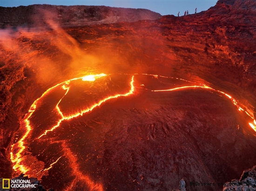
<path id="1" fill-rule="evenodd" d="M 0 0 L 0 6 L 27 6 L 33 4 L 50 5 L 105 5 L 125 8 L 145 8 L 162 15 L 174 14 L 185 10 L 189 13 L 206 11 L 216 5 L 217 0 Z"/>

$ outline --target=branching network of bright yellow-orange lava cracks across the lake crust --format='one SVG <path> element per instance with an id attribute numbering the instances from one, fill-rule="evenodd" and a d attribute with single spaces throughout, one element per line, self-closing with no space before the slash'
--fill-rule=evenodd
<path id="1" fill-rule="evenodd" d="M 135 79 L 136 79 L 135 76 L 137 76 L 137 75 L 139 75 L 139 74 L 130 75 L 131 78 L 130 78 L 130 82 L 128 84 L 129 90 L 127 90 L 126 92 L 117 93 L 117 94 L 113 94 L 113 95 L 108 95 L 106 97 L 103 96 L 102 99 L 88 105 L 88 107 L 86 107 L 84 109 L 81 109 L 80 111 L 77 111 L 77 112 L 73 112 L 73 113 L 71 112 L 68 115 L 64 114 L 63 111 L 61 111 L 60 103 L 61 103 L 62 99 L 64 99 L 65 96 L 67 96 L 67 94 L 70 90 L 70 87 L 71 87 L 71 84 L 70 84 L 71 82 L 80 80 L 80 81 L 84 81 L 85 83 L 94 83 L 94 81 L 96 82 L 99 78 L 104 78 L 104 77 L 109 76 L 109 75 L 101 73 L 101 74 L 97 74 L 97 75 L 88 75 L 88 76 L 83 76 L 83 77 L 79 77 L 79 78 L 73 78 L 73 79 L 67 80 L 65 82 L 58 83 L 57 85 L 47 89 L 42 94 L 42 96 L 40 96 L 38 99 L 36 99 L 34 101 L 34 103 L 29 108 L 28 113 L 25 115 L 23 121 L 21 122 L 21 127 L 23 127 L 25 129 L 25 133 L 23 134 L 23 136 L 21 137 L 21 139 L 18 142 L 14 143 L 12 145 L 11 153 L 10 153 L 14 171 L 17 172 L 17 173 L 24 173 L 24 174 L 27 174 L 27 175 L 30 175 L 30 176 L 34 175 L 33 173 L 31 173 L 31 171 L 32 171 L 31 167 L 29 165 L 26 165 L 26 163 L 23 161 L 23 159 L 24 159 L 24 156 L 26 154 L 26 149 L 27 149 L 26 141 L 29 140 L 29 137 L 31 136 L 31 133 L 32 133 L 33 129 L 35 128 L 31 124 L 31 117 L 32 117 L 33 113 L 35 112 L 35 110 L 37 109 L 38 105 L 45 98 L 45 96 L 47 96 L 50 93 L 53 93 L 53 91 L 56 90 L 56 89 L 62 89 L 62 91 L 63 90 L 65 91 L 64 95 L 59 99 L 56 106 L 54 107 L 54 111 L 56 111 L 56 114 L 59 116 L 58 120 L 56 120 L 54 122 L 54 125 L 52 125 L 51 127 L 48 127 L 47 130 L 45 130 L 42 134 L 40 134 L 37 137 L 38 140 L 44 139 L 44 136 L 46 136 L 50 132 L 53 132 L 57 127 L 59 127 L 61 125 L 61 123 L 63 121 L 69 121 L 69 120 L 72 120 L 73 118 L 76 118 L 76 117 L 82 116 L 82 115 L 84 115 L 88 112 L 91 112 L 94 108 L 99 107 L 101 104 L 103 104 L 104 102 L 107 102 L 108 100 L 116 99 L 118 97 L 126 97 L 126 96 L 133 95 L 135 93 L 135 85 L 134 85 Z M 182 80 L 182 81 L 185 81 L 187 83 L 194 83 L 194 82 L 184 80 L 184 79 L 181 79 L 181 78 L 158 76 L 158 75 L 153 75 L 153 74 L 141 74 L 141 75 L 143 75 L 143 76 L 152 76 L 156 79 L 158 79 L 159 77 L 172 78 L 172 79 L 175 79 L 175 80 Z M 144 87 L 144 84 L 141 84 L 138 87 L 141 87 L 142 89 L 148 90 Z M 249 127 L 251 127 L 254 131 L 256 131 L 256 121 L 247 109 L 242 108 L 232 96 L 230 96 L 230 95 L 228 95 L 228 94 L 226 94 L 222 91 L 210 88 L 205 84 L 196 83 L 195 85 L 181 86 L 181 87 L 175 87 L 175 88 L 171 88 L 171 89 L 149 89 L 149 90 L 152 91 L 152 92 L 166 92 L 166 91 L 178 91 L 178 90 L 183 90 L 183 89 L 195 89 L 195 88 L 209 89 L 209 90 L 216 91 L 219 94 L 222 94 L 222 95 L 228 97 L 233 102 L 233 104 L 236 105 L 236 107 L 238 108 L 238 110 L 240 112 L 244 112 L 246 115 L 248 115 L 252 119 L 252 121 L 249 122 Z M 61 146 L 63 148 L 62 151 L 65 153 L 65 156 L 67 156 L 67 159 L 68 159 L 69 163 L 73 166 L 72 174 L 75 177 L 71 186 L 67 190 L 72 190 L 72 187 L 78 181 L 84 181 L 86 183 L 86 185 L 88 185 L 88 188 L 90 190 L 103 191 L 103 187 L 100 183 L 95 183 L 88 175 L 84 175 L 79 170 L 79 165 L 76 163 L 77 159 L 74 156 L 74 154 L 72 154 L 70 148 L 68 148 L 68 145 L 65 143 L 65 140 L 61 142 Z M 62 158 L 62 156 L 59 157 L 58 159 L 55 159 L 54 162 L 52 162 L 50 165 L 48 165 L 47 168 L 44 167 L 40 172 L 49 171 L 56 163 L 60 162 L 61 158 Z M 36 173 L 36 174 L 39 174 L 39 173 Z M 39 176 L 39 178 L 41 178 L 40 177 L 41 175 L 38 175 L 38 176 Z"/>

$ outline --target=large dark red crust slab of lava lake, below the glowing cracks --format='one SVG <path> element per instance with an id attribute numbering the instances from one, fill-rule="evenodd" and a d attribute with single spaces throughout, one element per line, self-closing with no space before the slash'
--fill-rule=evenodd
<path id="1" fill-rule="evenodd" d="M 217 183 L 239 177 L 256 161 L 256 137 L 244 117 L 226 97 L 209 90 L 146 91 L 109 101 L 47 136 L 66 137 L 83 174 L 107 191 L 169 191 L 182 178 L 189 191 L 216 191 L 222 189 Z M 64 152 L 61 144 L 59 149 L 47 140 L 43 145 L 47 159 L 51 150 L 56 159 Z M 31 145 L 31 151 L 39 152 L 38 146 Z M 64 155 L 42 185 L 63 190 L 73 177 L 67 161 Z M 216 186 L 193 187 L 190 181 Z"/>

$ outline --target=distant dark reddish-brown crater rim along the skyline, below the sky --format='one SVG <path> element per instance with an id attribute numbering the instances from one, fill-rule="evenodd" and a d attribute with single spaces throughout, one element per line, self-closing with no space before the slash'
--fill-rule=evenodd
<path id="1" fill-rule="evenodd" d="M 155 20 L 161 15 L 147 9 L 115 8 L 108 6 L 53 6 L 31 5 L 18 7 L 0 7 L 0 27 L 48 26 L 53 19 L 61 26 L 96 25 L 103 23 L 135 22 L 137 20 Z M 46 16 L 47 15 L 47 16 Z M 46 17 L 44 17 L 46 16 Z"/>

